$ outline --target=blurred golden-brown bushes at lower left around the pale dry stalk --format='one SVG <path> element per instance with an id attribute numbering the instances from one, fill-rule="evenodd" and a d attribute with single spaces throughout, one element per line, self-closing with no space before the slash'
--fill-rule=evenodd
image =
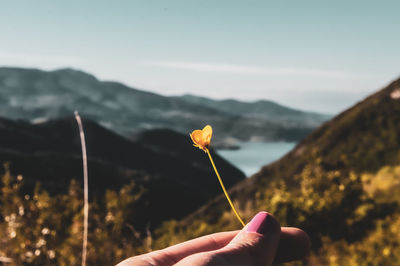
<path id="1" fill-rule="evenodd" d="M 135 185 L 106 191 L 103 201 L 90 203 L 88 265 L 113 265 L 148 250 L 143 238 L 128 223 L 131 205 L 140 197 Z M 83 230 L 83 195 L 72 181 L 67 194 L 50 196 L 38 184 L 24 192 L 22 176 L 8 169 L 0 186 L 0 257 L 11 265 L 80 265 Z"/>

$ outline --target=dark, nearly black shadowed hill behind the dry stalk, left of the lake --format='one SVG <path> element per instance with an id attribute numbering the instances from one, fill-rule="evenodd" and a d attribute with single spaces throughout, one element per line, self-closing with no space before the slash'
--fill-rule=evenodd
<path id="1" fill-rule="evenodd" d="M 136 192 L 143 192 L 132 207 L 132 224 L 139 229 L 184 217 L 221 192 L 207 157 L 193 148 L 189 136 L 155 130 L 133 142 L 88 119 L 83 119 L 83 126 L 91 198 L 103 200 L 106 190 L 133 181 Z M 228 187 L 245 178 L 218 154 L 213 156 Z M 52 195 L 65 193 L 72 179 L 82 180 L 75 119 L 31 124 L 1 118 L 0 162 L 9 162 L 13 174 L 22 174 L 30 190 L 40 182 Z"/>

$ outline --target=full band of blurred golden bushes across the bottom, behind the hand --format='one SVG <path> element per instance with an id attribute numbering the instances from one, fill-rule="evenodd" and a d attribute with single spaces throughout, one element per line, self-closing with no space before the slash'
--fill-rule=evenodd
<path id="1" fill-rule="evenodd" d="M 400 166 L 384 166 L 375 174 L 343 176 L 315 164 L 296 176 L 300 190 L 274 181 L 268 191 L 254 195 L 255 204 L 250 200 L 236 204 L 247 220 L 258 210 L 268 210 L 283 225 L 307 231 L 314 251 L 304 263 L 399 265 L 399 174 Z M 139 233 L 129 223 L 132 206 L 141 196 L 132 193 L 134 188 L 131 183 L 119 191 L 107 190 L 103 200 L 91 202 L 89 265 L 113 265 L 193 237 L 240 228 L 227 206 L 215 209 L 220 215 L 199 218 L 203 208 L 182 221 L 166 222 L 153 236 Z M 26 193 L 23 177 L 13 177 L 7 170 L 0 201 L 0 257 L 11 258 L 10 265 L 80 264 L 83 205 L 77 182 L 71 182 L 67 194 L 50 196 L 40 185 Z M 217 207 L 216 202 L 210 205 Z"/>

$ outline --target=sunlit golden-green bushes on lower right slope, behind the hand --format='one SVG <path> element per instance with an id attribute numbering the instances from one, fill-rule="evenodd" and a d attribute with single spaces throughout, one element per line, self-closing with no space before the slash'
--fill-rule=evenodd
<path id="1" fill-rule="evenodd" d="M 296 176 L 300 190 L 285 182 L 272 182 L 270 189 L 254 195 L 254 202 L 237 202 L 247 220 L 258 210 L 268 210 L 282 225 L 297 226 L 309 233 L 313 253 L 304 263 L 312 265 L 400 264 L 400 166 L 385 166 L 377 174 L 343 176 L 324 172 L 316 164 Z M 382 181 L 382 182 L 381 182 Z M 390 188 L 390 193 L 383 193 Z M 215 202 L 195 215 L 159 228 L 156 248 L 221 230 L 238 229 L 228 208 L 207 215 Z"/>

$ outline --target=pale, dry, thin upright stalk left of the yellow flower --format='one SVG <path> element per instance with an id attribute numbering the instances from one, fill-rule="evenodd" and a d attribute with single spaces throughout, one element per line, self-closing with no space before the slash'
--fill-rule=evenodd
<path id="1" fill-rule="evenodd" d="M 88 218 L 89 218 L 89 189 L 88 189 L 88 170 L 87 170 L 87 155 L 86 155 L 86 142 L 85 132 L 83 131 L 82 120 L 75 111 L 75 119 L 79 127 L 79 135 L 81 138 L 82 146 L 82 162 L 83 162 L 83 243 L 82 243 L 82 266 L 86 266 L 87 257 L 87 235 L 88 235 Z"/>

